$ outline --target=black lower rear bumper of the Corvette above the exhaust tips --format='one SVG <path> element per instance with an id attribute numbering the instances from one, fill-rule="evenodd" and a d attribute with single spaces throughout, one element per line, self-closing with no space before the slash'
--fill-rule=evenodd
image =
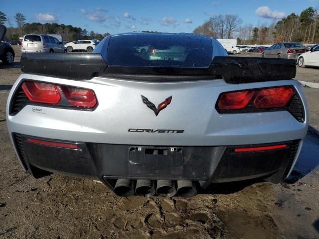
<path id="1" fill-rule="evenodd" d="M 119 145 L 52 140 L 23 134 L 13 134 L 13 139 L 23 167 L 34 177 L 42 176 L 42 170 L 45 170 L 100 179 L 111 188 L 114 179 L 119 178 L 192 180 L 199 181 L 203 188 L 210 183 L 253 178 L 278 183 L 288 175 L 301 145 L 300 140 L 239 146 Z M 47 145 L 41 140 L 58 145 Z M 279 144 L 286 146 L 235 152 L 235 148 Z"/>

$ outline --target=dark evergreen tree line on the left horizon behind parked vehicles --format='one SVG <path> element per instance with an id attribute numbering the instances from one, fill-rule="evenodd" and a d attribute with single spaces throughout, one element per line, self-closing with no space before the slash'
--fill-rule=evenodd
<path id="1" fill-rule="evenodd" d="M 0 11 L 0 24 L 8 23 L 7 33 L 4 40 L 18 40 L 24 34 L 39 33 L 39 34 L 61 34 L 65 41 L 75 41 L 78 39 L 98 39 L 102 40 L 104 37 L 110 35 L 110 33 L 100 34 L 94 31 L 88 32 L 81 27 L 74 27 L 72 25 L 64 25 L 58 23 L 39 23 L 32 22 L 26 23 L 25 16 L 18 12 L 14 16 L 16 27 L 6 15 Z"/>

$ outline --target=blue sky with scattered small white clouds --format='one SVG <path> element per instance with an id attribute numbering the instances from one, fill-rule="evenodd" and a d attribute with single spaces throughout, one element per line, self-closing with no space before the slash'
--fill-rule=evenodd
<path id="1" fill-rule="evenodd" d="M 0 11 L 14 26 L 21 12 L 26 22 L 71 24 L 102 34 L 192 32 L 210 16 L 227 13 L 259 26 L 309 6 L 319 9 L 319 0 L 0 0 Z"/>

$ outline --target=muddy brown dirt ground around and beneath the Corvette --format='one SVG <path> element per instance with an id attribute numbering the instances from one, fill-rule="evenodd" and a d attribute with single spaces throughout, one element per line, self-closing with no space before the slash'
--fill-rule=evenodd
<path id="1" fill-rule="evenodd" d="M 5 120 L 18 66 L 0 63 L 0 238 L 319 238 L 319 89 L 303 88 L 311 127 L 286 182 L 222 184 L 190 199 L 121 198 L 98 182 L 23 172 Z"/>

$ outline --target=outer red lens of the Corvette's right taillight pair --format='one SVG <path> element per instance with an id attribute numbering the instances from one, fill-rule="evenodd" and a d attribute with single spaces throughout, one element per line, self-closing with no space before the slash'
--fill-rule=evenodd
<path id="1" fill-rule="evenodd" d="M 294 91 L 290 86 L 260 90 L 254 106 L 259 109 L 285 107 L 293 95 Z"/>

